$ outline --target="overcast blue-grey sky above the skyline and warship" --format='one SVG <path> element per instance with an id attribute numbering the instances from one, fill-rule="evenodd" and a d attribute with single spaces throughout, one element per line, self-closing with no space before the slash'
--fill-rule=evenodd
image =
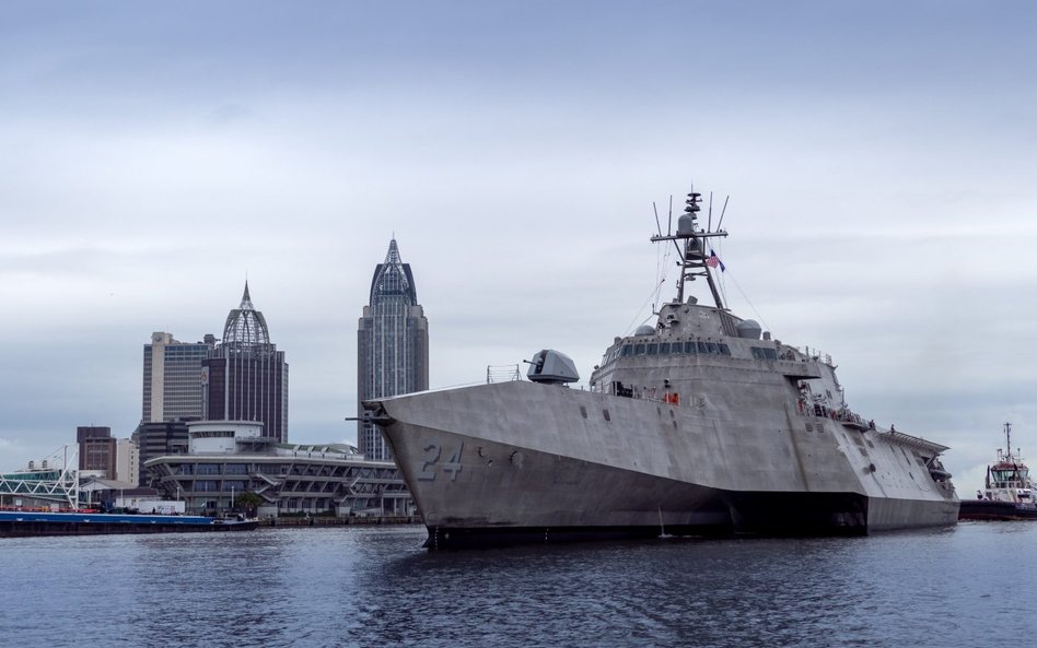
<path id="1" fill-rule="evenodd" d="M 585 379 L 694 181 L 734 313 L 970 495 L 1005 421 L 1037 461 L 1034 7 L 5 1 L 0 470 L 129 436 L 152 331 L 220 335 L 246 276 L 290 440 L 353 441 L 394 233 L 433 387 L 543 347 Z"/>

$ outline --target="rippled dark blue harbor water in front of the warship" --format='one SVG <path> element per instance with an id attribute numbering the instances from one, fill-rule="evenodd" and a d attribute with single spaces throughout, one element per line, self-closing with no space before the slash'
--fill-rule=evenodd
<path id="1" fill-rule="evenodd" d="M 433 553 L 424 535 L 401 526 L 0 540 L 0 641 L 922 648 L 1037 638 L 1034 522 Z"/>

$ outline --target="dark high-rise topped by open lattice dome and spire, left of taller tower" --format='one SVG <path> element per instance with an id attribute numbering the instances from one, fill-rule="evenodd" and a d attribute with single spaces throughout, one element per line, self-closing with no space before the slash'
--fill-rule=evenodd
<path id="1" fill-rule="evenodd" d="M 226 316 L 223 340 L 205 361 L 202 385 L 205 420 L 260 421 L 265 438 L 288 441 L 288 363 L 270 342 L 248 282 L 241 306 Z"/>

